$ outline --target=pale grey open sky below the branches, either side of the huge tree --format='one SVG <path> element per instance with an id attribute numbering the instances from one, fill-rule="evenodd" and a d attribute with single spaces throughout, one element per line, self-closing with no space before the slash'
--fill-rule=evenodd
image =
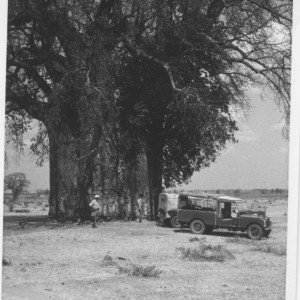
<path id="1" fill-rule="evenodd" d="M 235 144 L 227 144 L 215 163 L 182 185 L 182 189 L 254 189 L 288 187 L 288 141 L 282 136 L 284 120 L 272 100 L 271 94 L 261 99 L 261 90 L 248 93 L 251 109 L 246 117 L 238 120 L 239 131 Z M 25 135 L 29 146 L 33 132 Z M 28 147 L 27 147 L 28 148 Z M 19 164 L 13 159 L 13 151 L 6 150 L 9 167 L 5 174 L 23 172 L 31 182 L 30 191 L 49 188 L 49 164 L 37 167 L 29 150 Z"/>

